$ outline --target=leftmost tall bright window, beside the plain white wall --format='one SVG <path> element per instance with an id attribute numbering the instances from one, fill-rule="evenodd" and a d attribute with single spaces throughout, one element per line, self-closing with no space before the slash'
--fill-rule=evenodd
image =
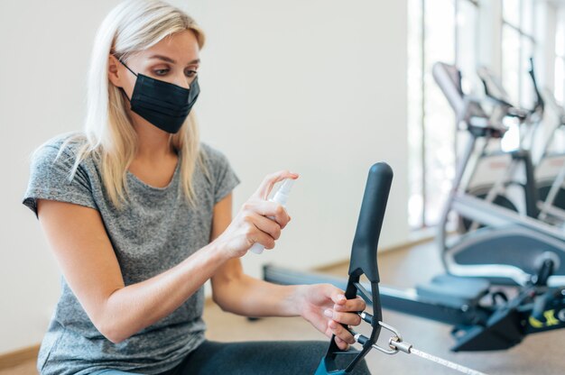
<path id="1" fill-rule="evenodd" d="M 409 223 L 440 219 L 455 175 L 455 115 L 431 76 L 436 61 L 455 63 L 467 76 L 477 69 L 474 0 L 409 0 L 408 134 Z"/>

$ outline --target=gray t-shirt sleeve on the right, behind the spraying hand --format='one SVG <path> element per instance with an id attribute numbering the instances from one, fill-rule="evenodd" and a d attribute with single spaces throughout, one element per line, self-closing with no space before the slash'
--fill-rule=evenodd
<path id="1" fill-rule="evenodd" d="M 204 146 L 208 158 L 208 172 L 214 186 L 214 204 L 226 197 L 241 182 L 232 169 L 226 155 L 209 146 Z"/>

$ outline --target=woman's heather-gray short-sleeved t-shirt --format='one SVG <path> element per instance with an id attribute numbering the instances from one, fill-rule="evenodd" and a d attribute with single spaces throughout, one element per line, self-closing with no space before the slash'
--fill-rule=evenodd
<path id="1" fill-rule="evenodd" d="M 209 242 L 213 208 L 239 183 L 226 157 L 201 144 L 208 176 L 195 169 L 192 183 L 197 206 L 181 196 L 180 163 L 165 188 L 145 184 L 126 172 L 130 204 L 118 211 L 104 188 L 94 158 L 83 160 L 69 182 L 77 145 L 55 160 L 62 134 L 42 146 L 32 158 L 23 204 L 37 215 L 36 199 L 51 199 L 97 209 L 112 242 L 125 285 L 171 269 Z M 79 252 L 80 249 L 77 249 Z M 155 374 L 169 370 L 204 341 L 204 288 L 154 325 L 122 343 L 111 343 L 88 318 L 79 300 L 61 278 L 61 295 L 38 358 L 42 374 L 87 374 L 112 368 Z"/>

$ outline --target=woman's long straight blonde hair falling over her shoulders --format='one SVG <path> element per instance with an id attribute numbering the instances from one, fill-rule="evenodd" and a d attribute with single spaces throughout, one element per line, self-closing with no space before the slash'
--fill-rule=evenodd
<path id="1" fill-rule="evenodd" d="M 79 163 L 88 156 L 95 158 L 110 200 L 117 208 L 127 196 L 126 169 L 137 151 L 137 133 L 126 111 L 129 102 L 120 89 L 109 82 L 108 56 L 127 59 L 146 50 L 163 38 L 190 30 L 196 35 L 199 48 L 204 46 L 204 32 L 188 14 L 159 0 L 128 0 L 117 5 L 104 19 L 94 41 L 88 70 L 87 116 L 84 133 L 73 133 L 60 148 L 59 155 L 70 142 L 84 142 L 70 178 Z M 179 154 L 181 188 L 192 206 L 195 193 L 192 175 L 197 163 L 204 168 L 199 148 L 199 131 L 191 111 L 178 133 L 171 134 L 170 145 Z M 59 157 L 58 155 L 58 157 Z"/>

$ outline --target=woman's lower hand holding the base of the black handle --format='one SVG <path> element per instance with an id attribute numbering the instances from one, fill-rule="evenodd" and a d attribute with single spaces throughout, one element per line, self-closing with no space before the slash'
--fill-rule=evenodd
<path id="1" fill-rule="evenodd" d="M 331 284 L 301 285 L 297 289 L 301 316 L 321 333 L 336 335 L 339 349 L 347 350 L 355 338 L 344 325 L 359 325 L 361 317 L 357 311 L 364 311 L 365 301 L 361 297 L 346 299 L 343 290 Z"/>

